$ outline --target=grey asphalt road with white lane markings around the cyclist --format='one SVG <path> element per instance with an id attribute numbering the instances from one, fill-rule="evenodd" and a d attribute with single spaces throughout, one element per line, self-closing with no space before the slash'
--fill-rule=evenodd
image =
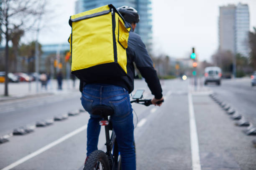
<path id="1" fill-rule="evenodd" d="M 161 107 L 133 104 L 137 169 L 255 170 L 256 148 L 251 141 L 256 137 L 244 134 L 245 128 L 235 126 L 209 97 L 215 92 L 223 100 L 231 98 L 227 102 L 237 109 L 255 110 L 256 90 L 247 88 L 246 81 L 224 80 L 220 87 L 208 85 L 197 91 L 189 80 L 161 81 L 165 99 Z M 137 80 L 135 88 L 146 90 L 144 98 L 152 97 L 143 80 Z M 234 96 L 242 97 L 242 102 Z M 79 97 L 79 92 L 72 91 L 0 102 L 0 136 L 78 110 L 82 108 Z M 251 121 L 255 118 L 253 112 L 244 116 Z M 81 112 L 33 133 L 11 136 L 9 142 L 0 144 L 0 170 L 80 170 L 88 119 L 88 113 Z M 102 129 L 98 148 L 104 150 L 104 143 Z"/>

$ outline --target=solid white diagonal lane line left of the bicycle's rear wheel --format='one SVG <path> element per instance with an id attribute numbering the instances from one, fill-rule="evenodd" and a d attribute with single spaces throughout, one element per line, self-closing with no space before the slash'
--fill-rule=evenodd
<path id="1" fill-rule="evenodd" d="M 40 148 L 40 149 L 36 150 L 35 152 L 21 158 L 20 160 L 17 160 L 15 163 L 12 163 L 12 164 L 8 165 L 7 167 L 5 167 L 1 170 L 10 170 L 10 169 L 20 165 L 21 163 L 24 163 L 25 161 L 43 153 L 44 151 L 49 150 L 50 148 L 54 147 L 55 145 L 58 145 L 59 143 L 67 140 L 68 138 L 71 138 L 72 136 L 76 135 L 77 133 L 82 132 L 85 129 L 87 129 L 87 125 L 84 125 L 84 126 L 78 128 L 78 129 L 74 130 L 73 132 L 67 134 L 67 135 L 64 135 L 63 137 L 55 140 L 52 143 L 49 143 L 48 145 L 44 146 L 43 148 Z"/>

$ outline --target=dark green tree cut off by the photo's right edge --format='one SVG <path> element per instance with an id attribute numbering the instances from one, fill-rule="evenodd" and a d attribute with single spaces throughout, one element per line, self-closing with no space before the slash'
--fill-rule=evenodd
<path id="1" fill-rule="evenodd" d="M 256 70 L 256 28 L 253 27 L 254 32 L 249 32 L 249 45 L 251 48 L 250 52 L 250 64 L 253 69 Z"/>

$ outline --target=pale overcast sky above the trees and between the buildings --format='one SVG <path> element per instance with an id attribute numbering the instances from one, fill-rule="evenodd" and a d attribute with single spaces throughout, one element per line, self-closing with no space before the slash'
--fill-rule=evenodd
<path id="1" fill-rule="evenodd" d="M 50 26 L 41 31 L 41 44 L 67 42 L 71 32 L 68 20 L 74 15 L 74 2 L 50 2 L 49 7 L 56 15 L 48 21 Z M 184 58 L 195 47 L 199 60 L 210 61 L 218 48 L 219 6 L 237 5 L 238 2 L 249 5 L 250 30 L 253 30 L 253 26 L 256 27 L 256 0 L 152 0 L 154 54 Z M 34 37 L 27 35 L 23 41 Z"/>

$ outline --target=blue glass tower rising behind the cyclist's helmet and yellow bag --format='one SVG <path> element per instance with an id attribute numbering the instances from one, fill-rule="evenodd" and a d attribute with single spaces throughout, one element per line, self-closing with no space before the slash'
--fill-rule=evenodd
<path id="1" fill-rule="evenodd" d="M 150 50 L 152 45 L 151 0 L 77 0 L 75 4 L 75 13 L 81 13 L 110 3 L 115 7 L 128 5 L 134 7 L 138 11 L 140 22 L 137 24 L 135 32 L 141 36 L 146 47 Z"/>

